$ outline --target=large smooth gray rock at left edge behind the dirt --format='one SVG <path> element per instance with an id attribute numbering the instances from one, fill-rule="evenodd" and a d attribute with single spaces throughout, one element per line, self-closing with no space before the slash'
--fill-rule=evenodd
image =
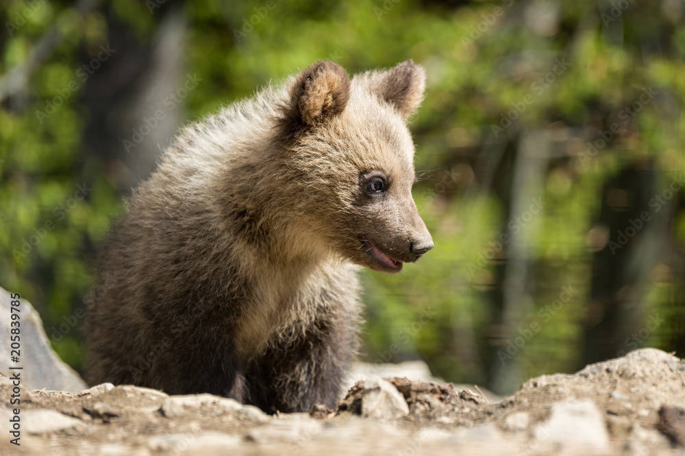
<path id="1" fill-rule="evenodd" d="M 0 287 L 0 334 L 10 334 L 12 317 L 10 316 L 10 293 Z M 40 315 L 26 299 L 21 299 L 19 315 L 20 329 L 20 362 L 10 362 L 10 338 L 0 338 L 0 373 L 10 377 L 9 366 L 21 366 L 21 381 L 24 390 L 47 390 L 76 392 L 87 388 L 86 382 L 66 365 L 53 351 L 50 341 L 43 330 Z"/>

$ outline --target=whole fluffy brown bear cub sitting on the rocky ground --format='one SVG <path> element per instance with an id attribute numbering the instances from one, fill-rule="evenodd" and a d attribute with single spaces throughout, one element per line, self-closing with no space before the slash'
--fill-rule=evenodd
<path id="1" fill-rule="evenodd" d="M 412 61 L 350 79 L 324 60 L 186 126 L 99 261 L 90 384 L 336 407 L 358 348 L 356 265 L 397 272 L 433 247 L 406 126 L 424 87 Z"/>

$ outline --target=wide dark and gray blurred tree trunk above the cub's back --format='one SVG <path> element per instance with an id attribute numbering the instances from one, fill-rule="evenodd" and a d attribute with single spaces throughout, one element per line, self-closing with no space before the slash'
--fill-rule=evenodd
<path id="1" fill-rule="evenodd" d="M 94 72 L 82 94 L 90 114 L 84 154 L 105 161 L 105 175 L 123 195 L 150 174 L 184 119 L 184 92 L 177 94 L 184 84 L 182 2 L 166 2 L 151 14 L 158 23 L 144 40 L 110 10 L 115 64 Z"/>

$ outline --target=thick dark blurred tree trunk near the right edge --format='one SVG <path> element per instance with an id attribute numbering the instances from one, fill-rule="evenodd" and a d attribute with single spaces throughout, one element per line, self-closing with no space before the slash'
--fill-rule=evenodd
<path id="1" fill-rule="evenodd" d="M 645 341 L 640 330 L 649 317 L 643 296 L 659 250 L 662 215 L 667 212 L 655 211 L 654 166 L 652 160 L 636 161 L 603 186 L 595 229 L 605 230 L 608 243 L 593 254 L 579 367 L 623 356 Z"/>

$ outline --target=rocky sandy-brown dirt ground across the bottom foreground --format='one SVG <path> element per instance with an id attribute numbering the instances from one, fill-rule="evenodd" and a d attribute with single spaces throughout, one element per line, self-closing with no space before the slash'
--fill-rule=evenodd
<path id="1" fill-rule="evenodd" d="M 21 446 L 6 377 L 0 394 L 1 454 L 685 454 L 685 360 L 656 349 L 531 379 L 499 403 L 399 377 L 358 382 L 336 411 L 277 416 L 134 386 L 22 391 Z"/>

